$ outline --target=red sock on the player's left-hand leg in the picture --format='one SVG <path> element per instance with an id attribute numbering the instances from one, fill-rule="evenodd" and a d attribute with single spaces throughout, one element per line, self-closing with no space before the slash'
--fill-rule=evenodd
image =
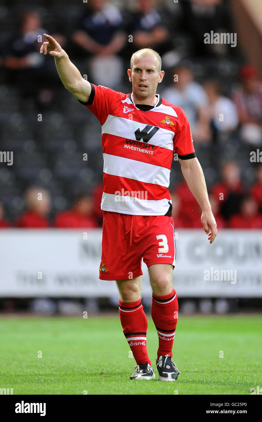
<path id="1" fill-rule="evenodd" d="M 123 333 L 128 341 L 130 349 L 137 365 L 151 361 L 146 351 L 147 319 L 143 311 L 141 298 L 135 302 L 122 302 L 119 300 L 119 315 Z"/>

